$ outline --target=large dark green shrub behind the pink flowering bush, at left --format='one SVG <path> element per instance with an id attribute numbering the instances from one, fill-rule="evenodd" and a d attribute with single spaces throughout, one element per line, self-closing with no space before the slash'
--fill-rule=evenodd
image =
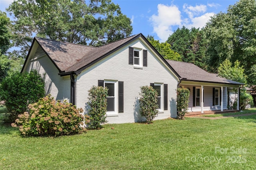
<path id="1" fill-rule="evenodd" d="M 36 70 L 15 73 L 4 78 L 0 96 L 8 111 L 5 121 L 14 122 L 19 114 L 27 110 L 28 104 L 36 102 L 44 94 L 44 79 Z"/>

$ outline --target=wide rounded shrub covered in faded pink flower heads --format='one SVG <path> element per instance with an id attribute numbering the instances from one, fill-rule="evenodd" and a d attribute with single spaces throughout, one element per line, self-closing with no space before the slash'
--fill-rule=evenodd
<path id="1" fill-rule="evenodd" d="M 29 111 L 18 115 L 13 127 L 20 127 L 24 136 L 71 135 L 80 133 L 84 127 L 83 109 L 68 102 L 61 103 L 50 95 L 28 105 Z M 88 120 L 88 117 L 86 117 Z"/>

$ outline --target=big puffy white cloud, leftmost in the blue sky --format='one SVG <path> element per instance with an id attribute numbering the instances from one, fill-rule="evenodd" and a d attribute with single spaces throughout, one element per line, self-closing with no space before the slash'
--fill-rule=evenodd
<path id="1" fill-rule="evenodd" d="M 181 12 L 178 6 L 175 5 L 158 4 L 157 8 L 158 14 L 152 15 L 150 21 L 154 27 L 154 32 L 160 38 L 160 41 L 164 42 L 173 33 L 172 26 L 181 24 Z"/>

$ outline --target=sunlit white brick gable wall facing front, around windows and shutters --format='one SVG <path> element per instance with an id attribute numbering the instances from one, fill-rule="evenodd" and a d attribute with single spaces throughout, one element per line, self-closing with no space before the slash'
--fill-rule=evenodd
<path id="1" fill-rule="evenodd" d="M 128 64 L 129 46 L 148 50 L 147 67 L 137 69 L 133 65 Z M 159 113 L 156 119 L 164 119 L 170 116 L 176 117 L 176 104 L 174 100 L 176 98 L 175 89 L 177 88 L 178 81 L 172 72 L 139 39 L 90 66 L 77 76 L 76 105 L 78 107 L 84 108 L 86 106 L 88 90 L 92 86 L 97 86 L 98 80 L 117 81 L 117 94 L 118 81 L 124 82 L 124 113 L 118 113 L 117 107 L 118 116 L 107 117 L 108 123 L 128 123 L 142 120 L 140 115 L 137 115 L 138 109 L 135 106 L 138 106 L 138 103 L 136 103 L 136 98 L 139 97 L 140 86 L 149 86 L 150 83 L 168 84 L 168 110 Z"/>

